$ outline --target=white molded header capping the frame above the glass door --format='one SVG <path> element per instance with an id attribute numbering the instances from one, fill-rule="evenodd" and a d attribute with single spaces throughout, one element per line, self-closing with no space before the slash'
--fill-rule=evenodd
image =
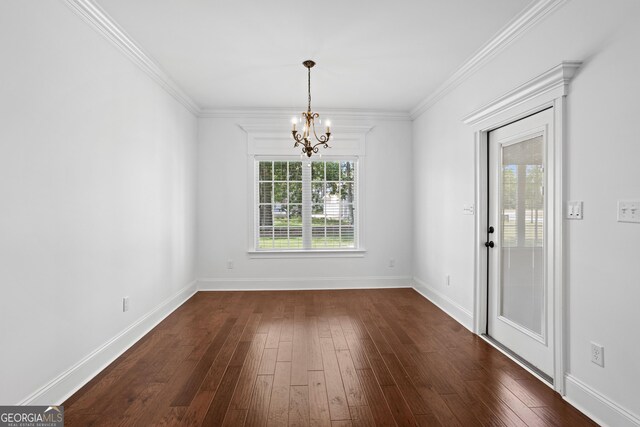
<path id="1" fill-rule="evenodd" d="M 462 121 L 475 126 L 540 95 L 551 93 L 553 98 L 565 96 L 569 82 L 581 65 L 582 61 L 562 61 L 552 69 L 466 115 Z"/>

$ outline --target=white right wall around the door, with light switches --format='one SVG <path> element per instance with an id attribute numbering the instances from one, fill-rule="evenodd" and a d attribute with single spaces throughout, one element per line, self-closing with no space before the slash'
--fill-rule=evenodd
<path id="1" fill-rule="evenodd" d="M 638 16 L 640 3 L 633 0 L 570 1 L 413 127 L 414 275 L 471 312 L 473 218 L 461 208 L 474 198 L 474 140 L 461 118 L 561 60 L 585 61 L 568 97 L 566 199 L 584 201 L 584 220 L 566 222 L 568 371 L 610 400 L 604 406 L 629 411 L 636 420 L 640 225 L 616 222 L 616 201 L 640 199 Z M 450 287 L 444 286 L 445 274 L 452 275 Z M 590 341 L 604 345 L 604 368 L 590 362 Z M 570 387 L 569 398 L 604 416 L 598 399 L 579 391 Z"/>

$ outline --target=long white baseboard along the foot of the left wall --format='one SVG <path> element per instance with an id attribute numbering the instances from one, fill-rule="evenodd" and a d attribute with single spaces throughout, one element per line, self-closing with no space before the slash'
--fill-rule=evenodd
<path id="1" fill-rule="evenodd" d="M 193 281 L 18 405 L 61 405 L 195 293 L 196 282 Z"/>

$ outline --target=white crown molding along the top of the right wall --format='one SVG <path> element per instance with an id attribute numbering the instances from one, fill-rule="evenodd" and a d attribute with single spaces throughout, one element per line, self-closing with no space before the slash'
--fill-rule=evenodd
<path id="1" fill-rule="evenodd" d="M 522 36 L 529 28 L 542 18 L 557 10 L 568 0 L 537 0 L 517 15 L 502 30 L 474 53 L 458 70 L 441 84 L 431 95 L 420 102 L 410 111 L 412 120 L 444 98 L 449 92 L 458 87 L 480 67 L 489 62 L 494 56 Z"/>

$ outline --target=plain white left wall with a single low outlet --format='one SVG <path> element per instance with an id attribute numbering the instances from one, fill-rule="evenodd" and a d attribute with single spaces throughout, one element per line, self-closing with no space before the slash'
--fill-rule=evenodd
<path id="1" fill-rule="evenodd" d="M 0 52 L 0 404 L 15 404 L 195 278 L 197 124 L 61 1 L 2 1 Z"/>

